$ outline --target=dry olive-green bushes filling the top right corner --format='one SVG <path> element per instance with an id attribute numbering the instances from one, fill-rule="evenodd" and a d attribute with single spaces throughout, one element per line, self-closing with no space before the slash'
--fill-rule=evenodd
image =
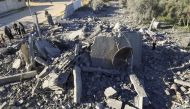
<path id="1" fill-rule="evenodd" d="M 128 0 L 127 7 L 137 20 L 146 21 L 162 16 L 176 23 L 184 14 L 190 13 L 190 0 Z M 190 15 L 185 16 L 186 21 L 190 19 Z"/>

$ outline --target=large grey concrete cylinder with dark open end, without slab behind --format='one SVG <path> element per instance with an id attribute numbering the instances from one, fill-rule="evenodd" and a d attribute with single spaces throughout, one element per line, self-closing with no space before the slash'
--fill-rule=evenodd
<path id="1" fill-rule="evenodd" d="M 98 36 L 91 47 L 92 66 L 114 68 L 126 65 L 132 47 L 124 36 Z"/>

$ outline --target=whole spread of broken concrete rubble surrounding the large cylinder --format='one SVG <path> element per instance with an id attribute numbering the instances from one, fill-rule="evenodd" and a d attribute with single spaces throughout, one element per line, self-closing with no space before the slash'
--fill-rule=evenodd
<path id="1" fill-rule="evenodd" d="M 158 42 L 152 50 L 150 32 L 127 27 L 133 24 L 122 13 L 117 5 L 100 13 L 79 9 L 57 22 L 58 26 L 41 27 L 42 36 L 28 34 L 0 48 L 1 108 L 189 108 L 189 51 L 180 48 L 171 34 L 156 33 Z M 141 61 L 141 47 L 135 57 L 141 41 L 137 46 L 123 44 L 134 41 L 124 33 L 139 34 L 142 63 L 131 63 Z M 101 38 L 105 41 L 98 44 Z M 109 46 L 112 39 L 117 43 Z M 121 44 L 125 49 L 119 48 Z M 114 47 L 118 51 L 112 56 Z M 126 52 L 131 49 L 134 59 Z M 92 55 L 92 50 L 100 52 Z M 117 65 L 124 64 L 119 68 L 93 66 L 99 59 L 93 56 L 105 56 L 101 58 L 106 61 L 112 56 Z"/>

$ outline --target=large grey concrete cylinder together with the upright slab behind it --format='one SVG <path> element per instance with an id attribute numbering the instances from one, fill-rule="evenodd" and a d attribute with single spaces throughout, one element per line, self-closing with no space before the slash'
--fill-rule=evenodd
<path id="1" fill-rule="evenodd" d="M 118 68 L 132 62 L 141 67 L 142 40 L 137 32 L 122 32 L 117 36 L 97 36 L 91 47 L 93 67 Z"/>

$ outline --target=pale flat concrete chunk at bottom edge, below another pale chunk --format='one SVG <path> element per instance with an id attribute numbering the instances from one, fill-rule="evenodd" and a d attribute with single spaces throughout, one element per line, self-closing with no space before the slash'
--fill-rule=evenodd
<path id="1" fill-rule="evenodd" d="M 122 107 L 122 102 L 116 99 L 108 99 L 106 103 L 110 108 L 121 109 Z"/>

